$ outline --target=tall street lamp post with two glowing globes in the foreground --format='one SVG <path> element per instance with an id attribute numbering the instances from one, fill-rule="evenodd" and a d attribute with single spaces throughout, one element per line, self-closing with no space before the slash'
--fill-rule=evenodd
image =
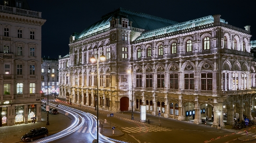
<path id="1" fill-rule="evenodd" d="M 102 52 L 102 55 L 100 55 L 100 60 L 103 61 L 105 60 L 105 55 L 103 55 L 103 52 Z M 97 59 L 92 55 L 91 57 L 91 62 L 95 62 L 97 60 L 97 143 L 98 143 L 98 124 L 99 124 L 99 121 L 98 121 L 98 84 L 99 84 L 99 71 L 98 71 L 98 62 L 99 62 L 99 58 L 98 58 L 98 48 L 97 48 Z"/>

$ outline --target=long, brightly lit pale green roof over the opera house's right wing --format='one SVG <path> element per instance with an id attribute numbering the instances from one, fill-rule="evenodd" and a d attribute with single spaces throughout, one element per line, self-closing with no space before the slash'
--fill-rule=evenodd
<path id="1" fill-rule="evenodd" d="M 225 22 L 225 20 L 220 19 L 220 22 Z M 198 18 L 195 20 L 191 20 L 191 21 L 187 21 L 187 22 L 182 22 L 182 23 L 178 23 L 178 24 L 174 24 L 174 25 L 170 25 L 167 27 L 163 27 L 163 28 L 159 28 L 153 31 L 149 31 L 146 33 L 141 33 L 141 35 L 139 37 L 137 37 L 134 41 L 138 41 L 141 39 L 146 39 L 146 38 L 150 38 L 153 36 L 158 36 L 164 33 L 172 33 L 175 31 L 179 31 L 179 30 L 185 30 L 185 29 L 189 29 L 189 28 L 193 28 L 193 27 L 197 27 L 197 26 L 202 26 L 202 25 L 206 25 L 209 23 L 213 23 L 213 16 L 209 15 L 206 17 L 202 17 L 202 18 Z"/>

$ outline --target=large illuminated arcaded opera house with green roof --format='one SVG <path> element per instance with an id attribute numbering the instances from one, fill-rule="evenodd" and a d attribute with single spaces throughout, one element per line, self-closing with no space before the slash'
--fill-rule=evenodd
<path id="1" fill-rule="evenodd" d="M 59 59 L 60 96 L 95 106 L 97 64 L 89 59 L 97 47 L 107 57 L 99 62 L 99 108 L 132 110 L 134 96 L 135 111 L 146 105 L 148 114 L 196 124 L 207 116 L 218 126 L 220 117 L 223 127 L 223 113 L 227 124 L 236 115 L 252 119 L 250 38 L 250 26 L 234 27 L 220 15 L 179 23 L 120 8 L 70 37 L 70 54 Z"/>

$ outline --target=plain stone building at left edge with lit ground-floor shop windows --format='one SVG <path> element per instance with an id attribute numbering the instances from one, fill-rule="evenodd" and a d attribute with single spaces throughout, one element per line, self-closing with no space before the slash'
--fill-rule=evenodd
<path id="1" fill-rule="evenodd" d="M 26 0 L 0 4 L 0 126 L 26 124 L 32 117 L 40 122 L 41 27 L 46 20 L 30 11 Z"/>

